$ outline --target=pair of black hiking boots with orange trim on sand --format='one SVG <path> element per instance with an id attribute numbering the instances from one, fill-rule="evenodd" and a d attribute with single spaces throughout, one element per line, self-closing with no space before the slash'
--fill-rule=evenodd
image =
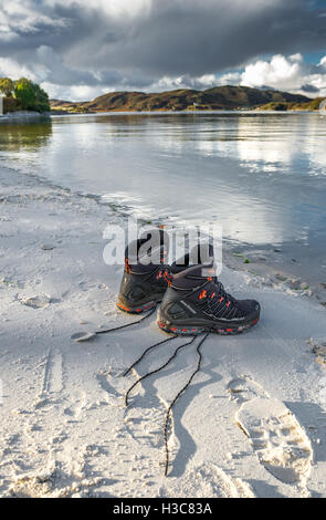
<path id="1" fill-rule="evenodd" d="M 165 263 L 167 253 L 164 230 L 148 231 L 128 245 L 117 301 L 120 310 L 140 313 L 160 302 L 158 326 L 185 335 L 238 334 L 257 323 L 259 302 L 235 300 L 218 280 L 212 246 L 198 245 L 171 266 Z"/>

